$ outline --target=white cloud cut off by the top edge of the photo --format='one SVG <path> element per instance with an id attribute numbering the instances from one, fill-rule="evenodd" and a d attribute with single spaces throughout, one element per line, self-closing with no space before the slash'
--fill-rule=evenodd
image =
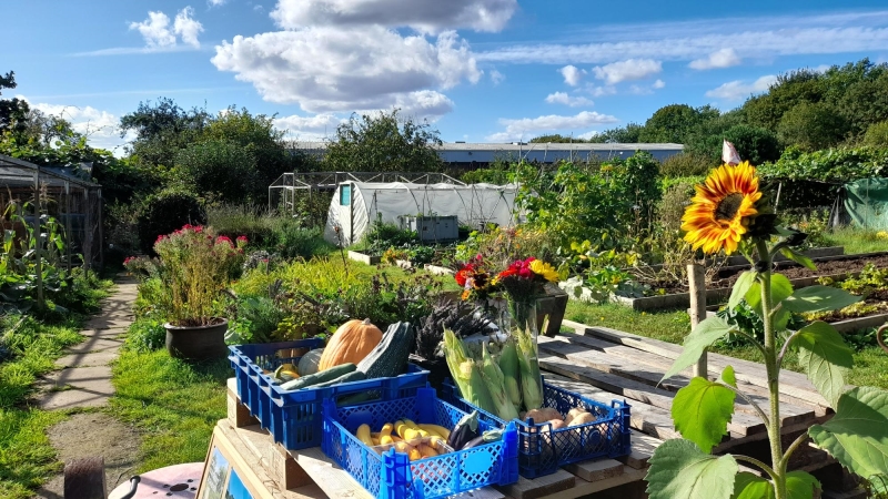
<path id="1" fill-rule="evenodd" d="M 427 33 L 458 28 L 496 32 L 517 6 L 517 0 L 279 0 L 271 17 L 283 29 L 375 24 Z"/>

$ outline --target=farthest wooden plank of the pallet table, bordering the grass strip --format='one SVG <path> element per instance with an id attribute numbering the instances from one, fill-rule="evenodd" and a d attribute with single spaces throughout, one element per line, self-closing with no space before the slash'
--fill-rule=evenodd
<path id="1" fill-rule="evenodd" d="M 588 336 L 595 336 L 614 343 L 622 343 L 623 345 L 662 355 L 670 359 L 677 358 L 682 353 L 682 347 L 679 345 L 673 345 L 667 342 L 633 335 L 630 333 L 610 329 L 608 327 L 591 327 L 571 320 L 564 320 L 563 324 L 567 327 L 583 330 L 584 334 Z M 765 367 L 761 364 L 719 354 L 709 355 L 710 370 L 715 368 L 717 371 L 720 371 L 727 365 L 734 367 L 737 379 L 741 379 L 761 387 L 767 387 L 767 375 L 765 373 Z M 800 373 L 783 369 L 780 371 L 780 393 L 791 395 L 796 398 L 807 400 L 825 408 L 829 407 L 829 403 L 827 403 L 826 399 L 817 393 L 817 390 L 814 388 L 814 385 L 811 385 L 808 378 Z"/>

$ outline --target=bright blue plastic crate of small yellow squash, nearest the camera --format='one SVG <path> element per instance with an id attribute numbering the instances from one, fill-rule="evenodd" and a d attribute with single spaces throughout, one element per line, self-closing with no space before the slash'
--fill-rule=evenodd
<path id="1" fill-rule="evenodd" d="M 336 407 L 327 400 L 321 447 L 370 493 L 383 499 L 438 498 L 517 481 L 518 435 L 513 424 L 500 441 L 415 461 L 394 448 L 379 455 L 354 436 L 362 424 L 375 430 L 402 418 L 453 428 L 465 415 L 438 399 L 433 388 L 420 388 L 413 397 L 352 407 Z M 480 431 L 494 428 L 480 419 Z"/>

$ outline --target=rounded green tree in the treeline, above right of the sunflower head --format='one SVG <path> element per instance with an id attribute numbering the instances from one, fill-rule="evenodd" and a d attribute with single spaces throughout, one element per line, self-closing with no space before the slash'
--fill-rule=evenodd
<path id="1" fill-rule="evenodd" d="M 847 130 L 845 118 L 831 105 L 803 101 L 783 115 L 777 136 L 784 144 L 816 151 L 837 145 L 845 139 Z"/>

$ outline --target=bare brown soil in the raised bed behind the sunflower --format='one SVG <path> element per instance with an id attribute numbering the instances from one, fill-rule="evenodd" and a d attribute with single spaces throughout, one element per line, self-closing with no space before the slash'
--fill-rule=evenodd
<path id="1" fill-rule="evenodd" d="M 815 265 L 817 265 L 816 271 L 809 271 L 808 268 L 805 268 L 791 262 L 780 262 L 775 264 L 775 266 L 780 272 L 780 274 L 785 275 L 787 278 L 797 279 L 804 277 L 851 274 L 855 272 L 860 272 L 861 269 L 864 269 L 864 266 L 870 263 L 874 264 L 876 268 L 886 268 L 888 267 L 888 255 L 815 262 Z M 738 268 L 738 267 L 723 269 L 722 272 L 718 273 L 717 278 L 714 279 L 712 283 L 709 283 L 706 287 L 709 289 L 731 287 L 734 286 L 734 283 L 737 281 L 737 277 L 746 268 Z M 642 279 L 642 282 L 650 286 L 650 289 L 655 292 L 664 289 L 666 292 L 665 294 L 688 292 L 687 284 L 682 282 L 645 281 L 645 279 Z"/>

